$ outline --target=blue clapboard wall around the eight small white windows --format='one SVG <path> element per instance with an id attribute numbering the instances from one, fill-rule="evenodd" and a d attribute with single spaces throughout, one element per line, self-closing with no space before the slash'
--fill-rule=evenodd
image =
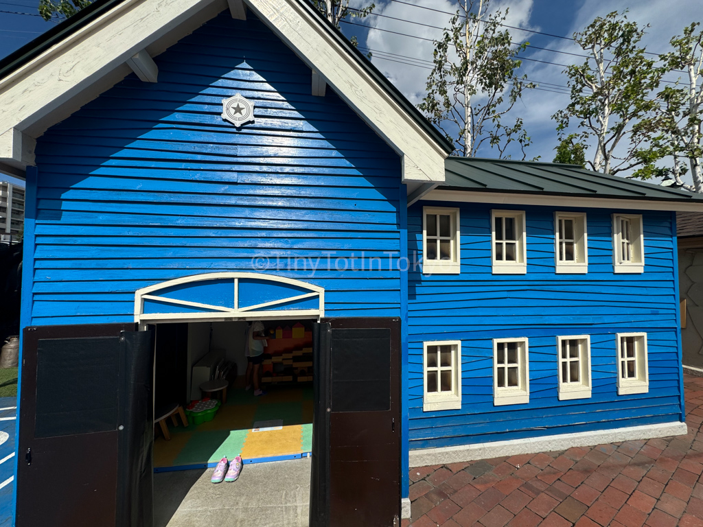
<path id="1" fill-rule="evenodd" d="M 681 419 L 671 214 L 644 212 L 645 273 L 612 272 L 612 212 L 586 209 L 588 274 L 555 274 L 554 212 L 526 212 L 527 274 L 491 274 L 491 206 L 460 207 L 461 274 L 409 276 L 411 448 L 463 445 Z M 422 252 L 422 205 L 408 252 Z M 562 209 L 560 209 L 562 210 Z M 568 210 L 568 209 L 567 209 Z M 583 212 L 583 211 L 582 211 Z M 617 395 L 615 333 L 647 332 L 649 393 Z M 559 401 L 557 335 L 591 335 L 591 398 Z M 494 406 L 494 338 L 529 338 L 530 402 Z M 423 412 L 423 341 L 462 341 L 462 408 Z"/>

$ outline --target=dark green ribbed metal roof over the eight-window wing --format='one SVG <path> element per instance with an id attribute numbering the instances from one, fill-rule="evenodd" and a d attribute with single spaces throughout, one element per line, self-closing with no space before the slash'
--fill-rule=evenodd
<path id="1" fill-rule="evenodd" d="M 441 190 L 700 203 L 703 195 L 610 176 L 574 164 L 450 156 Z"/>

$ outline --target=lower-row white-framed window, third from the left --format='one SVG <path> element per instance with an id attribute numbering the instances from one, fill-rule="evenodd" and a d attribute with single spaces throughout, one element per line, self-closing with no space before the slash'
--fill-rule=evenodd
<path id="1" fill-rule="evenodd" d="M 591 337 L 557 337 L 559 400 L 591 397 Z"/>

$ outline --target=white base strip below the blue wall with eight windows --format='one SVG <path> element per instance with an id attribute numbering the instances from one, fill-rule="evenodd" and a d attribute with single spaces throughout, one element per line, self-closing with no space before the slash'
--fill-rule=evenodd
<path id="1" fill-rule="evenodd" d="M 494 441 L 493 443 L 422 448 L 410 451 L 410 466 L 425 467 L 431 464 L 488 460 L 491 457 L 504 455 L 537 454 L 540 452 L 567 450 L 574 446 L 604 445 L 621 441 L 636 441 L 638 439 L 681 436 L 685 434 L 688 434 L 685 423 L 670 422 L 589 432 L 574 432 L 573 434 L 512 439 L 510 441 Z"/>

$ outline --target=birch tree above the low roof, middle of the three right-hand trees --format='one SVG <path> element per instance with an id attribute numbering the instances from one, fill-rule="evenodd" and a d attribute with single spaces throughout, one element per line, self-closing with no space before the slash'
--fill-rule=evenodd
<path id="1" fill-rule="evenodd" d="M 654 161 L 656 152 L 640 129 L 657 110 L 654 92 L 664 67 L 645 54 L 639 44 L 643 34 L 643 28 L 617 11 L 574 33 L 588 58 L 565 70 L 571 101 L 553 119 L 560 139 L 576 122 L 579 142 L 593 146 L 586 165 L 594 171 L 617 174 Z"/>

